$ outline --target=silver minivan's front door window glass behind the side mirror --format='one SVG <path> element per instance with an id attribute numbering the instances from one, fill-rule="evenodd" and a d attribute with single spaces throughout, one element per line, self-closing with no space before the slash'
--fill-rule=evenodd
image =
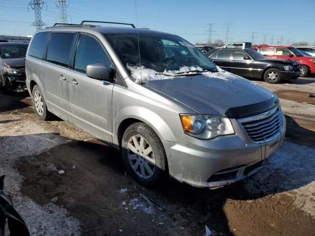
<path id="1" fill-rule="evenodd" d="M 110 59 L 96 39 L 80 35 L 75 53 L 74 70 L 86 73 L 87 65 L 92 63 L 104 63 L 110 68 Z"/>

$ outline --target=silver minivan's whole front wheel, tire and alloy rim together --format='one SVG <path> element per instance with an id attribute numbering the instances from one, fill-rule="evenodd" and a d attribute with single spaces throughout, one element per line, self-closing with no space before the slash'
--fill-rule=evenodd
<path id="1" fill-rule="evenodd" d="M 162 142 L 145 123 L 134 123 L 126 129 L 122 140 L 122 154 L 128 172 L 144 186 L 156 186 L 168 176 Z"/>

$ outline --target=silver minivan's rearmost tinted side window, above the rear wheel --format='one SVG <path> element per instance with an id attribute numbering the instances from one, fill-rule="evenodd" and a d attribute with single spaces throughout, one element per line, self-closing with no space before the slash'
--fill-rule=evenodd
<path id="1" fill-rule="evenodd" d="M 29 55 L 35 58 L 45 59 L 49 32 L 36 33 L 32 39 Z"/>

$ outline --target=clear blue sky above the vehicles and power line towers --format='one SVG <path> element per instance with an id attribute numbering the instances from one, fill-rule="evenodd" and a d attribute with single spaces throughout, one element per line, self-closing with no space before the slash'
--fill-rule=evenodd
<path id="1" fill-rule="evenodd" d="M 42 9 L 42 21 L 56 22 L 59 9 L 55 0 Z M 29 0 L 0 0 L 0 34 L 32 35 L 34 13 Z M 213 24 L 212 40 L 225 40 L 226 24 L 230 25 L 229 41 L 252 41 L 274 44 L 308 41 L 315 43 L 315 0 L 137 0 L 138 27 L 178 34 L 192 43 L 207 42 L 207 24 Z M 69 22 L 82 20 L 134 23 L 134 0 L 70 0 Z"/>

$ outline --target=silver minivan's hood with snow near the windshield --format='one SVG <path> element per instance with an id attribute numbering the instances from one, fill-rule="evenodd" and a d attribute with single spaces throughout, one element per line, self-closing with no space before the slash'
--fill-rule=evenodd
<path id="1" fill-rule="evenodd" d="M 276 97 L 269 90 L 226 71 L 148 81 L 145 86 L 164 93 L 196 113 L 204 115 L 228 116 L 227 111 L 231 108 L 242 107 L 241 110 L 244 110 L 248 105 L 263 104 Z M 257 106 L 253 109 L 256 110 L 255 113 L 260 109 Z M 251 111 L 245 109 L 245 113 L 251 114 Z"/>

